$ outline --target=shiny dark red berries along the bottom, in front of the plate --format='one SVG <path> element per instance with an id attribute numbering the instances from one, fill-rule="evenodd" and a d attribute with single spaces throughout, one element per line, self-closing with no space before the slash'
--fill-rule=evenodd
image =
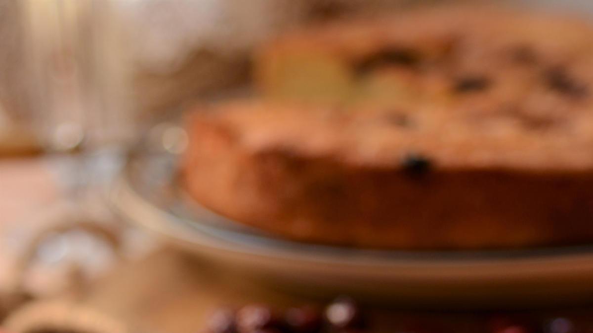
<path id="1" fill-rule="evenodd" d="M 400 333 L 479 331 L 487 333 L 586 333 L 568 318 L 517 320 L 507 316 L 487 316 L 480 329 L 429 329 L 415 327 Z M 362 333 L 375 331 L 368 316 L 349 297 L 339 297 L 325 308 L 301 306 L 283 312 L 266 305 L 246 305 L 238 310 L 219 309 L 209 317 L 206 333 Z M 385 331 L 379 329 L 378 331 Z M 592 331 L 593 332 L 593 331 Z"/>

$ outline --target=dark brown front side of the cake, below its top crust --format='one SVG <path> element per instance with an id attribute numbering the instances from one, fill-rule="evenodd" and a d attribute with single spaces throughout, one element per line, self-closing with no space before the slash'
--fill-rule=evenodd
<path id="1" fill-rule="evenodd" d="M 270 129 L 286 132 L 292 123 L 278 129 L 273 119 L 285 122 L 289 116 L 282 113 L 292 114 L 291 108 L 258 103 L 227 108 L 192 117 L 184 184 L 200 204 L 264 232 L 297 241 L 402 249 L 593 239 L 593 168 L 443 167 L 429 151 L 402 152 L 390 165 L 360 164 L 338 153 L 339 138 L 333 146 L 305 153 L 286 137 L 284 145 L 256 144 L 250 133 L 258 131 L 237 122 L 236 114 L 250 114 L 266 137 L 262 133 L 269 130 L 261 126 L 266 121 L 254 116 L 257 108 L 265 110 Z M 314 136 L 301 148 L 315 147 Z"/>

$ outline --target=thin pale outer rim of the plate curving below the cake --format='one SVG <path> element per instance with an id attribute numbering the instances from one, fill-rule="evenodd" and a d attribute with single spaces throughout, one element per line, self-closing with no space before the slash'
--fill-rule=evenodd
<path id="1" fill-rule="evenodd" d="M 442 268 L 448 273 L 444 276 L 451 276 L 451 269 L 459 269 L 463 271 L 473 271 L 476 268 L 515 268 L 515 271 L 525 271 L 524 268 L 533 270 L 535 267 L 545 268 L 542 271 L 554 271 L 553 267 L 560 264 L 565 266 L 566 263 L 573 262 L 581 268 L 586 268 L 586 271 L 593 273 L 593 248 L 590 246 L 571 246 L 569 248 L 538 248 L 538 249 L 510 249 L 510 250 L 496 250 L 496 251 L 387 251 L 374 249 L 349 249 L 342 255 L 329 255 L 327 252 L 316 252 L 314 249 L 326 249 L 331 246 L 315 245 L 315 244 L 299 244 L 304 248 L 309 248 L 309 254 L 315 252 L 315 256 L 304 253 L 294 253 L 280 248 L 270 249 L 264 246 L 253 246 L 246 244 L 239 244 L 229 239 L 217 238 L 208 233 L 200 232 L 199 228 L 195 228 L 200 222 L 189 222 L 184 217 L 174 216 L 173 213 L 167 212 L 160 207 L 152 204 L 149 200 L 137 193 L 132 184 L 130 184 L 129 177 L 126 177 L 128 167 L 116 177 L 112 182 L 108 202 L 117 212 L 126 217 L 136 225 L 141 225 L 146 229 L 152 230 L 165 236 L 176 243 L 176 241 L 184 242 L 184 248 L 196 248 L 199 252 L 223 251 L 231 255 L 248 255 L 260 258 L 268 258 L 272 260 L 289 260 L 297 262 L 309 262 L 317 265 L 339 265 L 359 268 L 416 268 L 423 270 L 426 268 Z M 133 207 L 130 209 L 130 207 Z M 135 209 L 136 212 L 130 212 Z M 134 216 L 136 213 L 141 213 L 142 218 Z M 259 236 L 262 237 L 262 236 Z M 281 243 L 284 241 L 280 241 Z M 199 249 L 198 249 L 199 248 Z M 272 251 L 273 250 L 273 251 Z M 340 251 L 342 249 L 340 248 Z M 374 257 L 378 251 L 393 252 L 393 257 Z M 443 255 L 447 252 L 447 255 Z M 486 255 L 483 255 L 486 253 Z M 352 254 L 358 254 L 353 255 Z M 432 257 L 432 258 L 431 258 Z M 517 267 L 518 266 L 518 267 Z M 573 265 L 571 265 L 573 266 Z M 556 271 L 566 271 L 562 268 Z M 570 271 L 573 271 L 571 269 Z M 411 273 L 411 272 L 408 272 Z M 444 272 L 445 273 L 445 272 Z M 460 272 L 461 273 L 461 272 Z M 479 272 L 477 272 L 479 273 Z M 511 271 L 503 272 L 503 276 L 509 276 Z M 455 274 L 452 274 L 453 276 Z M 458 274 L 460 277 L 466 274 Z M 483 275 L 483 274 L 477 274 Z"/>

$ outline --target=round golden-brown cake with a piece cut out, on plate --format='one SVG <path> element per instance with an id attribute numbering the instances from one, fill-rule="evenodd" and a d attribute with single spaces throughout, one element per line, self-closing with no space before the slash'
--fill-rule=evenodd
<path id="1" fill-rule="evenodd" d="M 184 187 L 215 212 L 295 241 L 586 244 L 590 36 L 573 18 L 484 8 L 289 34 L 260 53 L 262 98 L 187 117 Z"/>

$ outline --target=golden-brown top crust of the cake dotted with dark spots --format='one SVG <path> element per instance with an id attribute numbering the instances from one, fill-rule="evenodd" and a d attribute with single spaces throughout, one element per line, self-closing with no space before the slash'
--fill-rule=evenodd
<path id="1" fill-rule="evenodd" d="M 353 81 L 395 78 L 405 94 L 388 106 L 238 101 L 199 117 L 254 151 L 361 167 L 422 156 L 442 168 L 590 170 L 592 37 L 576 18 L 492 8 L 334 23 L 279 38 L 260 62 L 327 55 Z"/>

